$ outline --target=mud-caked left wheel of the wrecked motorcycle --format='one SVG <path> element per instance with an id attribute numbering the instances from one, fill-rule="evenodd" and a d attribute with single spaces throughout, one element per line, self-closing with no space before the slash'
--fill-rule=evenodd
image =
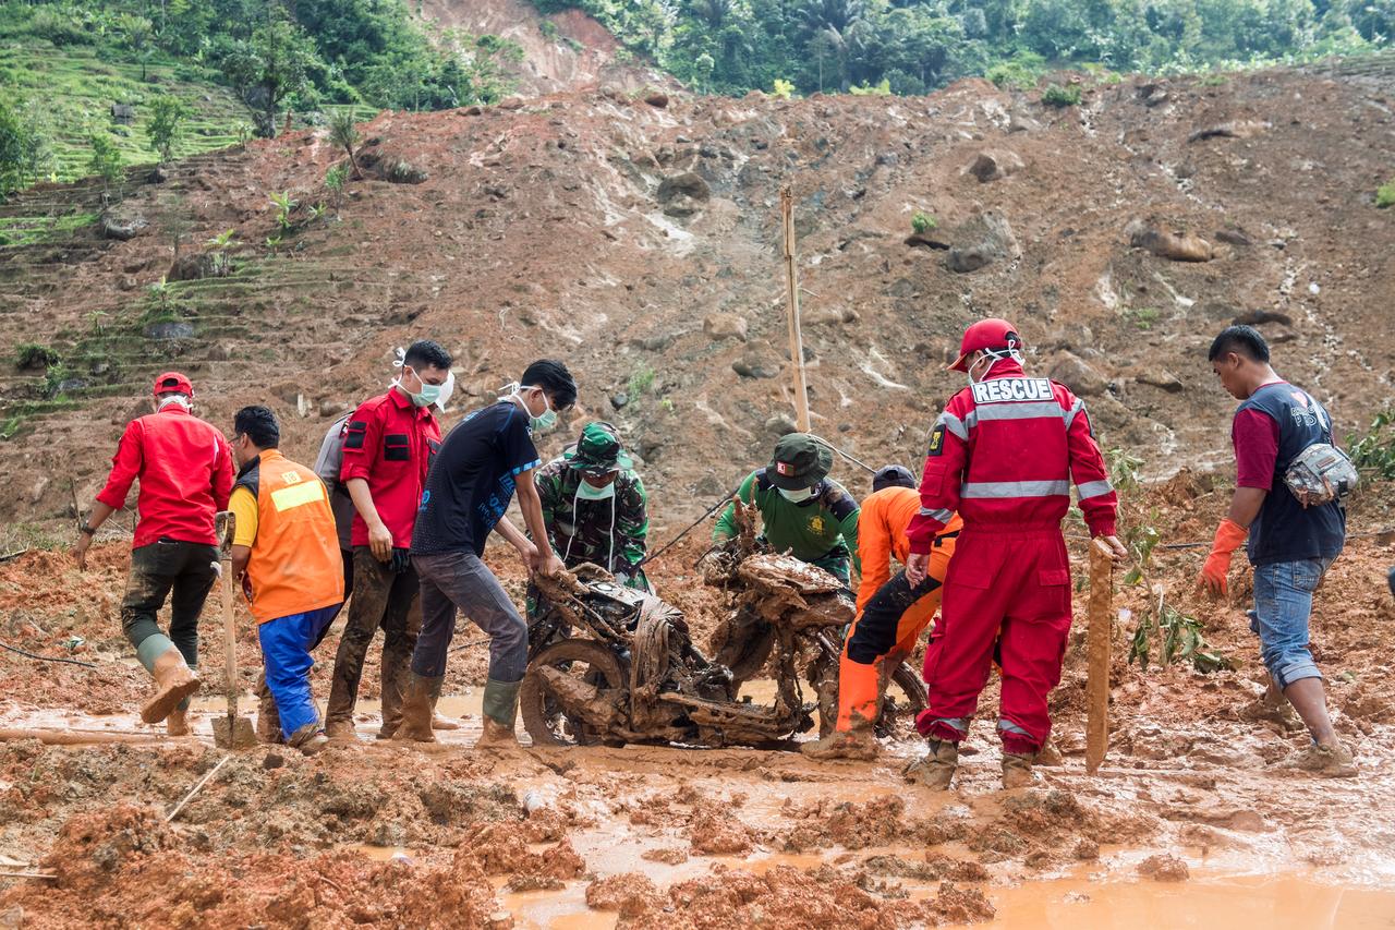
<path id="1" fill-rule="evenodd" d="M 579 677 L 600 690 L 628 690 L 629 674 L 621 659 L 600 642 L 562 640 L 545 647 L 529 662 L 519 688 L 519 714 L 534 746 L 617 743 L 582 718 L 568 714 L 538 672 L 541 667 Z"/>

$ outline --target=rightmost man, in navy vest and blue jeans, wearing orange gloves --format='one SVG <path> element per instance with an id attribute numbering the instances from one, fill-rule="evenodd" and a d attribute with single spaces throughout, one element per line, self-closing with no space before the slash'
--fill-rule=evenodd
<path id="1" fill-rule="evenodd" d="M 1322 673 L 1309 652 L 1313 592 L 1346 539 L 1346 512 L 1336 501 L 1304 507 L 1283 480 L 1293 459 L 1314 443 L 1332 443 L 1332 419 L 1306 391 L 1269 367 L 1269 346 L 1253 327 L 1229 327 L 1211 344 L 1211 367 L 1239 401 L 1230 438 L 1236 489 L 1216 529 L 1198 586 L 1226 593 L 1230 553 L 1249 536 L 1254 566 L 1250 628 L 1278 688 L 1299 712 L 1313 744 L 1292 765 L 1318 775 L 1356 775 L 1327 712 Z"/>

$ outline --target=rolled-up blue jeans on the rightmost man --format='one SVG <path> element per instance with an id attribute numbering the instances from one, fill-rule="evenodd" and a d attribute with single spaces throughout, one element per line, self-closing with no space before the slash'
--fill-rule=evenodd
<path id="1" fill-rule="evenodd" d="M 1275 561 L 1254 568 L 1254 610 L 1250 630 L 1260 637 L 1260 658 L 1279 688 L 1302 679 L 1321 679 L 1309 652 L 1309 617 L 1331 559 Z"/>

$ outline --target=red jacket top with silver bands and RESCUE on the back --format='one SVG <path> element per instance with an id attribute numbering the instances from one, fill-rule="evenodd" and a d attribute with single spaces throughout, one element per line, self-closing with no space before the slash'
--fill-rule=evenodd
<path id="1" fill-rule="evenodd" d="M 1059 529 L 1071 483 L 1091 535 L 1113 535 L 1119 497 L 1084 401 L 1011 360 L 993 371 L 950 398 L 930 431 L 911 552 L 929 553 L 956 511 L 967 529 Z"/>

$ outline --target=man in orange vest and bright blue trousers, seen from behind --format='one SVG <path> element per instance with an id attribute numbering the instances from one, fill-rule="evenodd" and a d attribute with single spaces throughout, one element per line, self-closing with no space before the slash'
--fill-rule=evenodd
<path id="1" fill-rule="evenodd" d="M 345 599 L 343 560 L 329 493 L 304 465 L 283 457 L 280 426 L 265 406 L 244 406 L 233 418 L 237 483 L 229 508 L 233 580 L 257 620 L 282 739 L 307 755 L 328 741 L 310 691 L 310 651 L 339 614 Z"/>

